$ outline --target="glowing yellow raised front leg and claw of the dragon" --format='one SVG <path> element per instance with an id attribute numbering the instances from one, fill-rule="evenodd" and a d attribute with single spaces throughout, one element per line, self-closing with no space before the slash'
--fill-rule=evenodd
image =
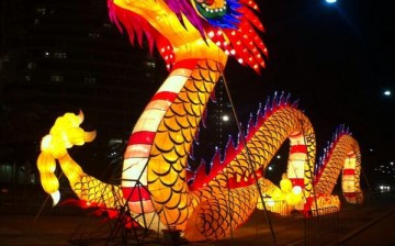
<path id="1" fill-rule="evenodd" d="M 74 145 L 82 145 L 95 137 L 95 132 L 84 132 L 79 125 L 83 121 L 83 114 L 66 113 L 56 120 L 49 134 L 43 137 L 37 158 L 37 167 L 41 175 L 42 186 L 45 192 L 54 200 L 54 205 L 59 201 L 59 181 L 55 176 L 56 160 L 68 178 L 71 189 L 76 194 L 92 204 L 102 204 L 104 208 L 116 208 L 122 203 L 120 188 L 110 187 L 100 180 L 87 176 L 82 168 L 69 156 L 67 148 Z M 100 190 L 100 193 L 98 193 Z"/>

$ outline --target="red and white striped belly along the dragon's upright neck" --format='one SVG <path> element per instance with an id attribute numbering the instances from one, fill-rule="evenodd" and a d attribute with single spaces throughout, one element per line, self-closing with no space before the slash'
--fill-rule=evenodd
<path id="1" fill-rule="evenodd" d="M 177 68 L 166 79 L 142 116 L 127 144 L 122 172 L 122 190 L 128 206 L 135 213 L 154 211 L 147 187 L 147 165 L 158 125 L 165 113 L 188 81 L 192 69 Z"/>

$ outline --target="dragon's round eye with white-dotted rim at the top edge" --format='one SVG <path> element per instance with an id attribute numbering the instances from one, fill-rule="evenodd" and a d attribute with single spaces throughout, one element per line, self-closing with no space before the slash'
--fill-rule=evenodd
<path id="1" fill-rule="evenodd" d="M 222 18 L 226 14 L 226 0 L 194 0 L 200 14 L 206 19 Z"/>

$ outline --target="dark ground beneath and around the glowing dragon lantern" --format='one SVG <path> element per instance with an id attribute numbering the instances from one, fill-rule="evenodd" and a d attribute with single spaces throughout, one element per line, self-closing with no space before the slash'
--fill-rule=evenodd
<path id="1" fill-rule="evenodd" d="M 2 204 L 0 217 L 1 246 L 60 246 L 60 245 L 137 245 L 123 237 L 110 238 L 110 233 L 122 232 L 113 223 L 87 215 L 72 208 L 23 210 L 22 204 Z M 362 205 L 342 204 L 338 214 L 339 234 L 332 236 L 337 245 L 395 245 L 395 194 L 371 194 Z M 307 245 L 304 223 L 300 214 L 281 217 L 269 213 L 275 243 L 263 211 L 256 212 L 248 223 L 236 230 L 233 238 L 218 242 L 184 243 L 185 245 Z M 116 234 L 116 233 L 115 233 Z M 117 233 L 116 235 L 120 235 Z M 139 237 L 140 245 L 163 245 L 162 237 Z M 316 238 L 323 242 L 324 237 Z M 309 242 L 308 245 L 318 245 Z M 325 245 L 325 244 L 321 244 Z"/>

